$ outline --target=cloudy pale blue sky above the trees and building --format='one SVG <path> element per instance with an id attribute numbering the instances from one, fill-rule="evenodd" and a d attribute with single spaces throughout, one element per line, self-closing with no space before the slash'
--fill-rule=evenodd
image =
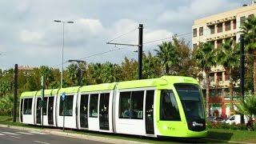
<path id="1" fill-rule="evenodd" d="M 62 23 L 54 20 L 74 22 L 64 27 L 64 62 L 82 59 L 121 63 L 124 57 L 137 59 L 134 50 L 138 48 L 106 42 L 125 34 L 112 42 L 138 44 L 140 23 L 144 26 L 143 42 L 150 42 L 190 33 L 195 19 L 232 10 L 243 3 L 250 1 L 0 0 L 0 69 L 14 67 L 15 63 L 60 68 L 63 30 Z M 183 38 L 190 42 L 191 34 Z M 143 50 L 154 53 L 161 42 L 146 44 Z M 110 52 L 100 54 L 106 51 Z"/>

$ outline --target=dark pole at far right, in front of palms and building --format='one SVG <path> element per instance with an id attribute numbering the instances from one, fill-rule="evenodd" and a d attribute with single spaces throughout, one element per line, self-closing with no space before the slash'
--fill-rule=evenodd
<path id="1" fill-rule="evenodd" d="M 243 35 L 240 35 L 240 90 L 242 94 L 242 102 L 245 98 L 245 88 L 244 88 L 244 79 L 245 79 L 245 50 L 244 50 L 244 38 Z M 244 115 L 241 114 L 241 123 L 244 124 Z"/>

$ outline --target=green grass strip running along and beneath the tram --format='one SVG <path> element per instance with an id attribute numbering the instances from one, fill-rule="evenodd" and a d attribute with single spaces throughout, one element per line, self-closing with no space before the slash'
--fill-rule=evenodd
<path id="1" fill-rule="evenodd" d="M 12 122 L 12 118 L 9 116 L 0 116 L 0 124 L 8 126 L 23 126 L 36 129 L 42 129 L 41 126 L 25 125 L 19 122 Z M 61 129 L 55 129 L 61 131 Z M 170 142 L 218 142 L 221 141 L 235 141 L 235 142 L 256 142 L 256 131 L 247 130 L 224 130 L 224 129 L 210 129 L 207 138 L 147 138 L 141 136 L 127 135 L 127 134 L 108 134 L 99 133 L 88 130 L 66 130 L 67 133 L 72 134 L 86 134 L 90 136 L 97 136 L 102 138 L 117 138 L 136 142 L 148 142 L 148 143 L 170 143 Z M 217 141 L 216 141 L 217 140 Z"/>

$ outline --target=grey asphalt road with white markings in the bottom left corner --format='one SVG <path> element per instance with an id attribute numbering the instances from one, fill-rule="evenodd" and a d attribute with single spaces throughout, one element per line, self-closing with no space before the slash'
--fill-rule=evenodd
<path id="1" fill-rule="evenodd" d="M 102 142 L 90 141 L 79 138 L 62 137 L 52 134 L 46 134 L 37 131 L 15 130 L 0 127 L 1 144 L 98 144 Z"/>

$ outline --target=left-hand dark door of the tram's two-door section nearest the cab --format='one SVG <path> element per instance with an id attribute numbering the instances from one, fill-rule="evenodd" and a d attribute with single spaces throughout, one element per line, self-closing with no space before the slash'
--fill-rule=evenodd
<path id="1" fill-rule="evenodd" d="M 88 128 L 88 98 L 89 98 L 89 94 L 81 94 L 80 126 L 82 128 Z"/>

